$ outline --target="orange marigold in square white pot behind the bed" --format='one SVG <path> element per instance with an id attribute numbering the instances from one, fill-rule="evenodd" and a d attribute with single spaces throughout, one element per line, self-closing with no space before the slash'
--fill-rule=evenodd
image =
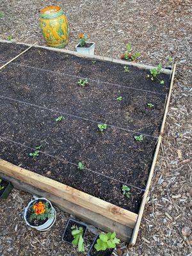
<path id="1" fill-rule="evenodd" d="M 95 43 L 88 42 L 88 37 L 84 34 L 78 35 L 79 44 L 76 45 L 76 51 L 83 54 L 94 55 Z"/>

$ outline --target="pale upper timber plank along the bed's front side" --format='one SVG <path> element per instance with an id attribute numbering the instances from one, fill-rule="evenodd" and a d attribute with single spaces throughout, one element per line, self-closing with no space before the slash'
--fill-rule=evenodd
<path id="1" fill-rule="evenodd" d="M 104 200 L 66 186 L 65 184 L 61 184 L 56 180 L 49 179 L 19 166 L 15 166 L 3 159 L 0 159 L 0 172 L 15 177 L 15 179 L 26 182 L 27 184 L 42 189 L 52 195 L 59 196 L 69 202 L 80 205 L 90 211 L 101 214 L 113 221 L 127 225 L 128 227 L 133 228 L 136 223 L 138 214 L 134 212 L 127 211 L 121 207 L 105 202 Z"/>

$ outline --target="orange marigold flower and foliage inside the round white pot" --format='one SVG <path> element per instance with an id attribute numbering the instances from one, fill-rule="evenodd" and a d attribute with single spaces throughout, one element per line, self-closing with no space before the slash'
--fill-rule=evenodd
<path id="1" fill-rule="evenodd" d="M 34 202 L 29 207 L 29 210 L 31 211 L 31 214 L 29 216 L 29 221 L 33 220 L 46 220 L 54 218 L 54 211 L 51 209 L 51 205 L 49 202 Z"/>

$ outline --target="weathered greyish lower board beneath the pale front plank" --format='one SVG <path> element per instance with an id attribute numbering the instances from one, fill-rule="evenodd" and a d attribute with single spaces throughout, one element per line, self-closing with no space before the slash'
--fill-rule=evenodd
<path id="1" fill-rule="evenodd" d="M 60 198 L 59 196 L 55 196 L 41 189 L 37 189 L 35 188 L 35 186 L 31 186 L 27 183 L 21 182 L 18 179 L 15 179 L 8 175 L 4 175 L 3 173 L 0 173 L 0 177 L 12 182 L 14 188 L 16 189 L 20 189 L 22 191 L 28 192 L 31 195 L 43 196 L 47 198 L 52 202 L 52 204 L 56 205 L 62 211 L 73 214 L 77 216 L 77 218 L 85 221 L 90 225 L 94 225 L 95 227 L 105 231 L 111 231 L 111 232 L 115 231 L 117 236 L 120 239 L 129 243 L 129 239 L 132 234 L 132 228 L 129 228 L 126 225 L 122 225 L 116 221 L 112 221 L 100 214 L 97 214 L 93 211 L 85 209 L 79 205 L 73 204 L 72 202 L 68 202 L 67 200 Z"/>

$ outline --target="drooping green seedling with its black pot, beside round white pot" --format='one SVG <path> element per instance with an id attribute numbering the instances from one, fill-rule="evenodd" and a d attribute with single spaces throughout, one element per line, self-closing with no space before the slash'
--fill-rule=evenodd
<path id="1" fill-rule="evenodd" d="M 87 225 L 83 222 L 69 219 L 63 232 L 62 241 L 77 246 L 78 252 L 84 252 L 84 235 Z"/>

